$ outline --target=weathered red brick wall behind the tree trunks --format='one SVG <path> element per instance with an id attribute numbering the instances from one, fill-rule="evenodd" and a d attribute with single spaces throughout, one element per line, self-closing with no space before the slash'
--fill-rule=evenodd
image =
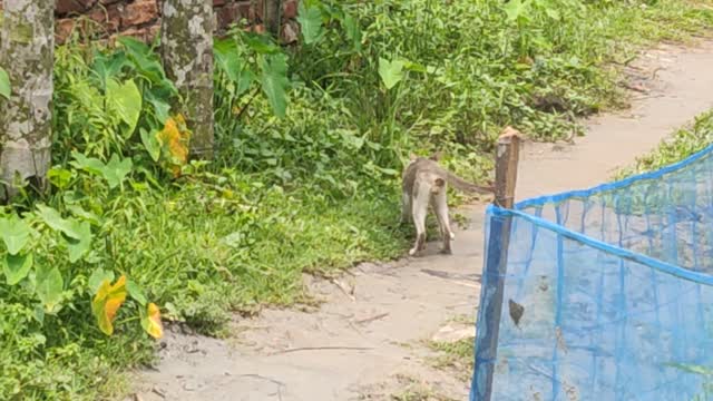
<path id="1" fill-rule="evenodd" d="M 7 0 L 6 0 L 7 1 Z M 48 1 L 48 0 L 38 0 Z M 98 22 L 104 37 L 129 35 L 150 40 L 160 26 L 162 0 L 55 0 L 56 32 L 58 42 L 62 42 L 77 26 L 77 18 L 85 16 Z M 294 17 L 297 0 L 283 0 L 282 37 L 286 42 L 296 38 Z M 247 20 L 251 26 L 262 30 L 262 0 L 213 0 L 218 31 L 233 22 Z M 2 9 L 2 0 L 0 0 Z"/>

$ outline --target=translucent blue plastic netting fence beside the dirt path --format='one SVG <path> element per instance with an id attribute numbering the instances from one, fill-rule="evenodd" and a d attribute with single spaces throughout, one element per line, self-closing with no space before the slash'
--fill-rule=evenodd
<path id="1" fill-rule="evenodd" d="M 712 153 L 488 209 L 471 401 L 713 399 Z"/>

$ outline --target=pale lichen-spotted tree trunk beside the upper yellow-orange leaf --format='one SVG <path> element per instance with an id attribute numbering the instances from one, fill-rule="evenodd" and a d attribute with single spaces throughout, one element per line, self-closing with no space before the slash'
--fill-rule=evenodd
<path id="1" fill-rule="evenodd" d="M 164 68 L 184 100 L 191 153 L 213 158 L 213 0 L 164 0 Z"/>

